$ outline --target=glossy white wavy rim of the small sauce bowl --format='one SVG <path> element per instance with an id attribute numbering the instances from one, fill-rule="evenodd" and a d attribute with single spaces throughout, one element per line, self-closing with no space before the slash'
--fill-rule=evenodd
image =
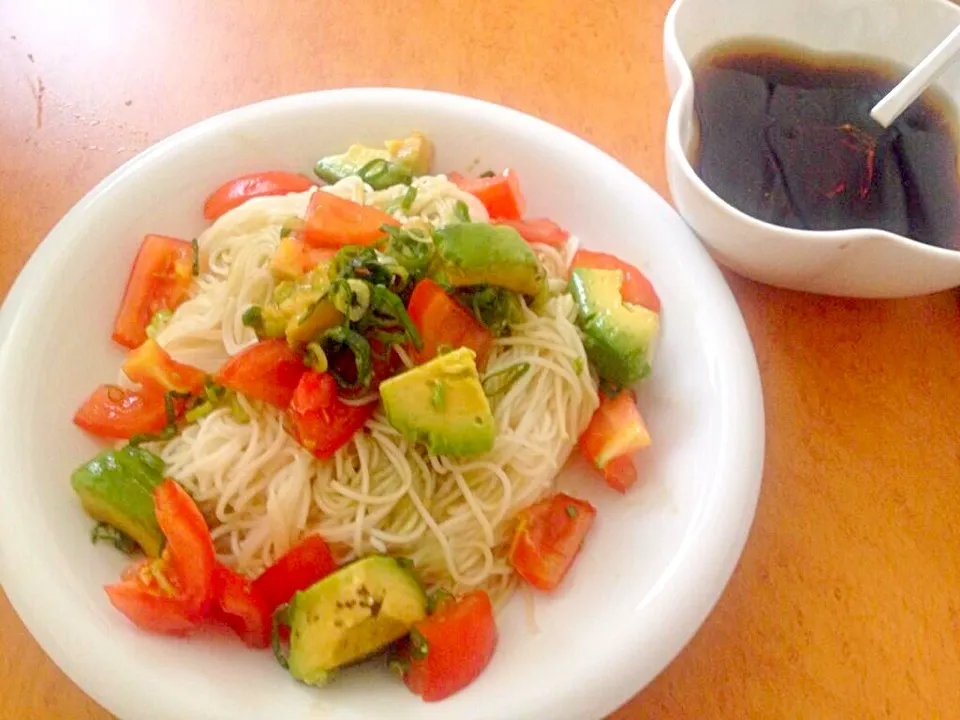
<path id="1" fill-rule="evenodd" d="M 960 248 L 942 248 L 937 245 L 912 240 L 911 238 L 876 228 L 850 228 L 847 230 L 804 230 L 798 228 L 788 228 L 782 225 L 776 225 L 766 220 L 755 218 L 734 205 L 728 203 L 713 188 L 707 185 L 703 179 L 693 169 L 690 159 L 684 150 L 683 143 L 680 141 L 680 124 L 686 117 L 684 110 L 687 107 L 693 107 L 694 102 L 694 84 L 693 69 L 691 67 L 691 58 L 687 58 L 680 49 L 680 40 L 677 36 L 677 16 L 683 11 L 683 6 L 695 0 L 675 0 L 670 10 L 667 12 L 667 18 L 664 22 L 664 55 L 672 60 L 680 70 L 680 85 L 670 102 L 670 110 L 667 114 L 667 132 L 666 145 L 667 154 L 673 157 L 677 167 L 684 174 L 687 181 L 718 211 L 727 214 L 732 219 L 746 225 L 752 232 L 763 233 L 770 236 L 780 236 L 780 238 L 790 238 L 793 240 L 808 241 L 811 243 L 832 243 L 842 244 L 851 242 L 887 242 L 892 245 L 917 252 L 919 254 L 929 255 L 931 259 L 939 258 L 960 264 Z M 957 20 L 960 21 L 960 7 L 949 2 L 949 0 L 927 0 L 927 2 L 942 5 L 955 11 Z M 947 31 L 949 32 L 949 30 Z"/>

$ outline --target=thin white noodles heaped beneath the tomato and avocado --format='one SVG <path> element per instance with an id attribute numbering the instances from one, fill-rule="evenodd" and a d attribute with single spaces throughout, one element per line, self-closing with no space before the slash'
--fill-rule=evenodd
<path id="1" fill-rule="evenodd" d="M 375 205 L 401 222 L 457 222 L 458 202 L 473 220 L 483 205 L 442 175 L 374 191 L 356 177 L 320 192 Z M 258 198 L 231 210 L 199 238 L 202 269 L 193 297 L 158 335 L 176 359 L 213 371 L 256 341 L 241 316 L 274 289 L 268 265 L 291 217 L 310 195 Z M 371 552 L 409 557 L 430 586 L 487 589 L 499 605 L 515 586 L 506 561 L 514 516 L 547 492 L 597 406 L 572 298 L 561 292 L 577 247 L 536 246 L 556 292 L 495 343 L 486 375 L 516 363 L 529 370 L 493 401 L 498 435 L 481 457 L 438 457 L 406 442 L 378 409 L 329 460 L 318 460 L 284 429 L 277 409 L 239 398 L 248 422 L 221 408 L 158 445 L 169 474 L 193 493 L 213 527 L 221 558 L 253 575 L 300 538 L 319 533 L 346 561 Z M 395 348 L 404 366 L 412 366 Z M 377 401 L 376 394 L 349 401 Z"/>

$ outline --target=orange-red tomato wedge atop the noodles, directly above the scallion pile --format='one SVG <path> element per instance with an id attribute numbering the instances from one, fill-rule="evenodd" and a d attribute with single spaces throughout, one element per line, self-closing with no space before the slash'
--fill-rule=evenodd
<path id="1" fill-rule="evenodd" d="M 372 245 L 387 236 L 381 225 L 399 224 L 399 220 L 383 210 L 319 190 L 307 206 L 303 239 L 313 247 Z"/>

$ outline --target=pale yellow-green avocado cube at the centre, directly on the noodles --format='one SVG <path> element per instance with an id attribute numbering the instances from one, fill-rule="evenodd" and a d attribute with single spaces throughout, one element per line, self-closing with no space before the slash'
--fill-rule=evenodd
<path id="1" fill-rule="evenodd" d="M 470 348 L 459 348 L 382 383 L 390 424 L 437 455 L 489 451 L 497 428 L 475 358 Z"/>

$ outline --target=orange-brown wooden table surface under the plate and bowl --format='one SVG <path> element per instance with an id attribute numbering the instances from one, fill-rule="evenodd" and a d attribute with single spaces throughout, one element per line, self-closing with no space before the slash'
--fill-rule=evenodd
<path id="1" fill-rule="evenodd" d="M 667 6 L 6 0 L 0 296 L 123 161 L 222 110 L 305 90 L 394 85 L 503 103 L 581 135 L 666 196 Z M 756 521 L 703 628 L 614 718 L 960 716 L 958 296 L 837 300 L 729 279 L 765 392 Z M 110 717 L 2 596 L 0 717 Z"/>

